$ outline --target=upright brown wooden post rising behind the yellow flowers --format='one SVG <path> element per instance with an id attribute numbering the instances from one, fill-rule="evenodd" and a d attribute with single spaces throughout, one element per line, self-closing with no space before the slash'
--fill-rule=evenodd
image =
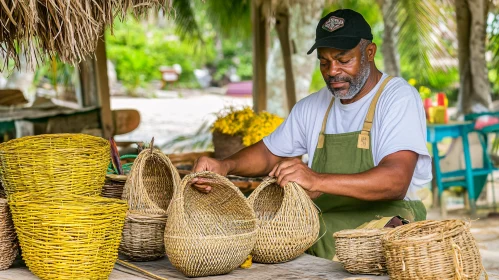
<path id="1" fill-rule="evenodd" d="M 253 109 L 267 109 L 267 49 L 269 27 L 261 6 L 251 1 L 253 23 Z"/>

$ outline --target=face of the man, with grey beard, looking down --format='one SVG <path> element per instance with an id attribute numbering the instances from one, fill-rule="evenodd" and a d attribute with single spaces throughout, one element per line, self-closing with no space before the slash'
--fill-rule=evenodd
<path id="1" fill-rule="evenodd" d="M 326 85 L 335 98 L 352 99 L 362 89 L 370 74 L 365 51 L 318 48 L 320 69 Z"/>

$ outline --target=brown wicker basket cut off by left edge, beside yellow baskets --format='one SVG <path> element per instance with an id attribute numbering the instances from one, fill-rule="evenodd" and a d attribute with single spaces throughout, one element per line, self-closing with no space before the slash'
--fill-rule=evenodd
<path id="1" fill-rule="evenodd" d="M 7 200 L 0 198 L 0 270 L 9 268 L 17 256 L 16 232 Z"/>

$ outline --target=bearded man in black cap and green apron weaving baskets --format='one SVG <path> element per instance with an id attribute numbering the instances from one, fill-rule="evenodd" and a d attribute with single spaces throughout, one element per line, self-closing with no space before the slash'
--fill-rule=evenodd
<path id="1" fill-rule="evenodd" d="M 331 259 L 333 233 L 379 216 L 424 220 L 417 190 L 431 178 L 421 98 L 402 78 L 380 72 L 369 24 L 352 10 L 322 18 L 316 41 L 326 87 L 298 102 L 263 141 L 218 161 L 200 158 L 195 171 L 270 175 L 300 184 L 322 211 L 323 237 L 309 253 Z M 308 154 L 305 165 L 294 158 Z M 202 180 L 194 187 L 209 192 Z M 327 232 L 325 230 L 327 229 Z"/>

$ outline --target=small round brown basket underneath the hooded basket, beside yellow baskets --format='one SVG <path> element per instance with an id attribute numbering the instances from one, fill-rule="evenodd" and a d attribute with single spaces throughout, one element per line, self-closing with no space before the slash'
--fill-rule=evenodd
<path id="1" fill-rule="evenodd" d="M 152 261 L 165 256 L 166 216 L 129 212 L 119 252 L 133 261 Z"/>

